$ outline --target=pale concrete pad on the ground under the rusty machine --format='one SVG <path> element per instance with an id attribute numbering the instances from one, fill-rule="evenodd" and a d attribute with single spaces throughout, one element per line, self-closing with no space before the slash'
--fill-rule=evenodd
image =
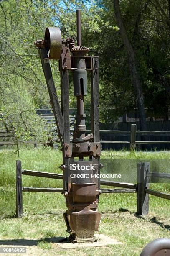
<path id="1" fill-rule="evenodd" d="M 94 247 L 94 246 L 107 246 L 109 244 L 117 245 L 122 244 L 114 238 L 105 235 L 94 235 L 97 238 L 97 242 L 94 243 L 69 243 L 69 241 L 64 241 L 63 243 L 57 243 L 57 245 L 61 246 L 64 249 L 74 249 L 80 247 Z"/>

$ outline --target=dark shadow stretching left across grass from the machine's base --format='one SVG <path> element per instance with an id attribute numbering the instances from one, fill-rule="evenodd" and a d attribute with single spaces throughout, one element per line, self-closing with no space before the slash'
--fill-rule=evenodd
<path id="1" fill-rule="evenodd" d="M 68 238 L 66 237 L 52 237 L 43 239 L 11 239 L 11 240 L 0 240 L 0 245 L 12 245 L 12 246 L 37 246 L 40 242 L 47 243 L 67 243 Z"/>

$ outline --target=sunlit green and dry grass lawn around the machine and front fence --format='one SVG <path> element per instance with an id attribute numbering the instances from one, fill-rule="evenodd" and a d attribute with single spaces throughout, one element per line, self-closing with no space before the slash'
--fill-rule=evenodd
<path id="1" fill-rule="evenodd" d="M 103 158 L 145 159 L 159 161 L 159 168 L 170 166 L 170 152 L 103 151 Z M 27 246 L 29 255 L 123 255 L 139 256 L 151 240 L 170 238 L 170 201 L 150 196 L 150 212 L 135 216 L 136 194 L 104 194 L 100 196 L 102 213 L 99 232 L 116 238 L 122 245 L 102 248 L 79 248 L 66 251 L 58 247 L 56 238 L 69 236 L 63 220 L 65 199 L 58 193 L 23 193 L 23 218 L 15 218 L 15 175 L 18 156 L 9 148 L 0 149 L 0 245 Z M 159 160 L 158 160 L 159 159 Z M 20 150 L 23 169 L 62 173 L 61 151 L 51 148 Z M 165 166 L 164 166 L 165 165 Z M 126 166 L 127 168 L 127 166 Z M 170 167 L 169 170 L 170 172 Z M 62 187 L 62 181 L 23 176 L 24 187 Z M 104 187 L 104 186 L 103 186 Z M 151 188 L 170 193 L 169 183 L 151 184 Z M 16 254 L 15 254 L 16 255 Z"/>

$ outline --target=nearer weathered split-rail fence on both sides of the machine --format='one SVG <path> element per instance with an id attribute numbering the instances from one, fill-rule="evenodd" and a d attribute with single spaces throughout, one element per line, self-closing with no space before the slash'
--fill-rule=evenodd
<path id="1" fill-rule="evenodd" d="M 16 161 L 16 216 L 22 217 L 23 214 L 23 192 L 59 192 L 63 193 L 63 188 L 42 188 L 42 187 L 23 187 L 22 175 L 34 177 L 44 177 L 51 179 L 62 179 L 63 174 L 51 172 L 37 172 L 22 170 L 21 161 Z M 170 200 L 170 195 L 149 189 L 150 177 L 170 178 L 170 173 L 150 172 L 150 163 L 144 162 L 137 164 L 137 184 L 100 180 L 101 185 L 111 187 L 121 187 L 121 189 L 101 188 L 99 194 L 103 193 L 137 193 L 137 215 L 146 215 L 149 212 L 149 194 Z M 123 188 L 123 189 L 122 189 Z"/>

